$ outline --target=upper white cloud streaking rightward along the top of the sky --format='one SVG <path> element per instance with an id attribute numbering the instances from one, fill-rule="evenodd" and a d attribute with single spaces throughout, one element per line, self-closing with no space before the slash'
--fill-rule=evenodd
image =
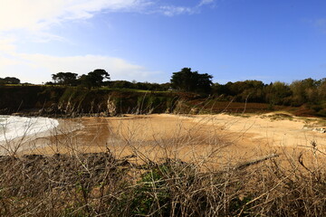
<path id="1" fill-rule="evenodd" d="M 207 1 L 207 0 L 206 0 Z M 33 42 L 64 41 L 53 25 L 91 19 L 103 12 L 194 14 L 197 6 L 158 4 L 157 0 L 0 0 L 0 33 L 14 33 Z"/>

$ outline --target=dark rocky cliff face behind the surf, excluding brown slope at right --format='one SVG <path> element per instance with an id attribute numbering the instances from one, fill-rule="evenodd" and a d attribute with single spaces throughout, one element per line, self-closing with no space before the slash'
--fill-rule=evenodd
<path id="1" fill-rule="evenodd" d="M 180 99 L 195 99 L 195 95 L 76 87 L 2 86 L 0 114 L 113 116 L 122 113 L 163 113 L 173 111 Z"/>

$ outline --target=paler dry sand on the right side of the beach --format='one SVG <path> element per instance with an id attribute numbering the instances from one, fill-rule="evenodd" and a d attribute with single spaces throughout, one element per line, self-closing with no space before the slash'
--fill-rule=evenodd
<path id="1" fill-rule="evenodd" d="M 314 127 L 326 127 L 326 122 L 318 124 L 318 121 L 322 120 L 319 118 L 298 118 L 286 113 L 268 113 L 247 117 L 219 114 L 195 116 L 191 119 L 198 123 L 222 126 L 235 135 L 243 134 L 243 137 L 248 139 L 246 142 L 253 144 L 297 147 L 311 146 L 314 141 L 322 148 L 326 145 L 326 134 L 312 130 Z"/>

